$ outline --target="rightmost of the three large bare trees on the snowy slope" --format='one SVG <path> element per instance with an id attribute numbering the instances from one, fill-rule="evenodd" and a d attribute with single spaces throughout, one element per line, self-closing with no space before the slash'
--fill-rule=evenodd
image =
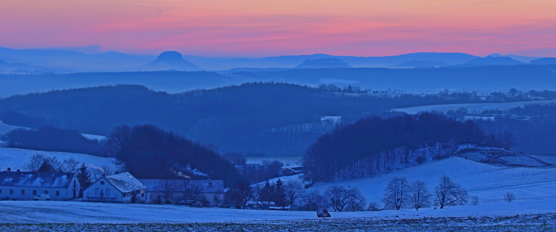
<path id="1" fill-rule="evenodd" d="M 452 182 L 450 177 L 446 175 L 440 177 L 435 193 L 435 204 L 440 205 L 440 209 L 444 209 L 446 205 L 464 205 L 467 203 L 467 190 Z"/>

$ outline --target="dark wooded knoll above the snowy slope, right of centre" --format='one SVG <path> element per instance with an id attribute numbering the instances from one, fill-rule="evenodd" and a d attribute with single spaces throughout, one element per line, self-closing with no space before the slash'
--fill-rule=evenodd
<path id="1" fill-rule="evenodd" d="M 408 163 L 416 149 L 431 147 L 450 155 L 459 145 L 480 143 L 484 138 L 473 121 L 433 113 L 370 117 L 320 137 L 304 156 L 305 176 L 311 181 L 363 176 L 386 164 Z"/>

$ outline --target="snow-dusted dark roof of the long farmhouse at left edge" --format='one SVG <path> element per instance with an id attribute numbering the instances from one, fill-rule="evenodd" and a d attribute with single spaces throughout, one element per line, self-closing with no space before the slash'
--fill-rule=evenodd
<path id="1" fill-rule="evenodd" d="M 0 171 L 0 186 L 68 187 L 75 173 Z"/>

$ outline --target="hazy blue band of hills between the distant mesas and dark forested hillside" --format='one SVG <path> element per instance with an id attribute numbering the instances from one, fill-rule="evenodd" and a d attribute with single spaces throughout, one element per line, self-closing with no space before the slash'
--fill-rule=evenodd
<path id="1" fill-rule="evenodd" d="M 334 83 L 363 89 L 405 92 L 507 92 L 510 88 L 556 90 L 556 65 L 513 65 L 439 68 L 243 68 L 231 74 L 215 72 L 92 72 L 43 75 L 0 75 L 0 97 L 64 88 L 135 84 L 170 93 L 240 85 L 244 82 L 287 82 L 318 86 Z M 229 72 L 226 72 L 229 73 Z"/>

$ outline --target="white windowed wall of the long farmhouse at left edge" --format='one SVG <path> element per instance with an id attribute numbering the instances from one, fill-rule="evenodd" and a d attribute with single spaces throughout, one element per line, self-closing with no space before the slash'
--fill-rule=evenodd
<path id="1" fill-rule="evenodd" d="M 0 198 L 33 200 L 37 194 L 48 194 L 52 201 L 63 201 L 78 198 L 79 189 L 79 181 L 74 176 L 67 187 L 0 186 Z"/>

